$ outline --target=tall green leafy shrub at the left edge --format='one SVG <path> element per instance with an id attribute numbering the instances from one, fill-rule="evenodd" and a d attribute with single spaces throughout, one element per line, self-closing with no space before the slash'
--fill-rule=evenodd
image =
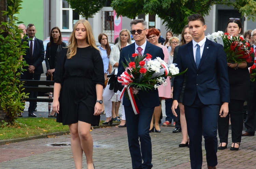
<path id="1" fill-rule="evenodd" d="M 24 71 L 25 61 L 20 60 L 20 56 L 25 54 L 27 43 L 21 42 L 21 29 L 16 24 L 18 18 L 15 14 L 21 8 L 20 0 L 7 0 L 9 10 L 2 11 L 2 16 L 7 16 L 7 21 L 1 22 L 0 29 L 0 111 L 4 116 L 0 116 L 0 123 L 12 124 L 17 113 L 24 109 L 25 103 L 22 101 L 27 94 L 22 92 L 20 74 Z M 7 35 L 7 36 L 6 36 Z"/>

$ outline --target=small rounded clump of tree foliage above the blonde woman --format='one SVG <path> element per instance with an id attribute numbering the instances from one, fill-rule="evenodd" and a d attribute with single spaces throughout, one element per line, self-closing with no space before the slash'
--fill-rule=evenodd
<path id="1" fill-rule="evenodd" d="M 106 0 L 67 0 L 75 12 L 85 18 L 92 18 L 101 10 Z"/>

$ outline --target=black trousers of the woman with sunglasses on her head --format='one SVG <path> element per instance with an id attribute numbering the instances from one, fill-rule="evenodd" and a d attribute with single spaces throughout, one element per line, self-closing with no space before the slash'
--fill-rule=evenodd
<path id="1" fill-rule="evenodd" d="M 218 119 L 218 133 L 221 143 L 228 143 L 228 128 L 229 117 L 231 122 L 231 136 L 232 142 L 241 142 L 243 131 L 243 106 L 244 100 L 230 99 L 228 104 L 228 115 L 226 117 L 219 117 Z"/>

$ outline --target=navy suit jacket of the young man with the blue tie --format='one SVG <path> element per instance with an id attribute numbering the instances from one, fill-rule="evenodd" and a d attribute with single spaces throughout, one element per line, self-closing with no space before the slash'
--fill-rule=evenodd
<path id="1" fill-rule="evenodd" d="M 183 105 L 191 106 L 197 94 L 204 105 L 229 102 L 227 56 L 221 44 L 206 39 L 197 69 L 191 41 L 180 46 L 176 63 L 180 72 L 188 68 Z M 174 100 L 179 101 L 183 80 L 184 75 L 174 78 Z"/>

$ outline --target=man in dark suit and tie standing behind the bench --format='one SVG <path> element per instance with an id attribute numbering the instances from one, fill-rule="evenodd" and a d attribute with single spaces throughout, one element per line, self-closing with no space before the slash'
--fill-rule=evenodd
<path id="1" fill-rule="evenodd" d="M 43 41 L 35 38 L 35 33 L 37 30 L 33 24 L 28 24 L 27 34 L 28 37 L 22 39 L 22 42 L 27 41 L 29 48 L 26 48 L 26 55 L 23 55 L 24 60 L 26 60 L 28 67 L 27 71 L 23 72 L 20 76 L 22 80 L 40 80 L 41 74 L 44 73 L 42 62 L 44 60 L 44 45 Z M 28 40 L 31 38 L 32 40 Z M 37 98 L 38 92 L 30 92 L 30 98 Z M 37 117 L 34 114 L 37 102 L 30 101 L 28 108 L 29 117 Z"/>

